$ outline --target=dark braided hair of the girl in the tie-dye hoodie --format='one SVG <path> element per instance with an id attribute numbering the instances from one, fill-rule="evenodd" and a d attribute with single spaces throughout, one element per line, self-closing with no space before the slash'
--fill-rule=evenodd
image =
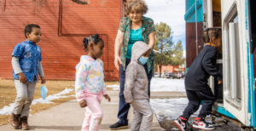
<path id="1" fill-rule="evenodd" d="M 98 34 L 90 35 L 89 37 L 84 37 L 82 47 L 87 51 L 90 43 L 97 44 L 98 42 L 103 42 L 102 38 Z"/>

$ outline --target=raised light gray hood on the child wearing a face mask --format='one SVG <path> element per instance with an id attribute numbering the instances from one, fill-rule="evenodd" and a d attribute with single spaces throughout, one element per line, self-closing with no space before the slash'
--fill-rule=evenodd
<path id="1" fill-rule="evenodd" d="M 150 48 L 147 43 L 141 41 L 134 43 L 131 49 L 131 60 L 138 61 L 138 59 L 149 49 Z"/>

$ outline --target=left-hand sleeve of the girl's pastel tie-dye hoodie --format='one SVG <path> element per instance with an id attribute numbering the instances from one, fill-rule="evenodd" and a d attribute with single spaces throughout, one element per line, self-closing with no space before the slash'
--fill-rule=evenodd
<path id="1" fill-rule="evenodd" d="M 86 77 L 88 76 L 89 68 L 88 65 L 79 63 L 76 67 L 76 81 L 75 81 L 75 94 L 77 101 L 84 100 L 84 83 L 86 81 Z"/>

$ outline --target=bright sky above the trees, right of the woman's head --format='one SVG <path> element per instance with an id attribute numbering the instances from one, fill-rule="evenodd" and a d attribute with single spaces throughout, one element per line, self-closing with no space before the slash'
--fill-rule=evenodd
<path id="1" fill-rule="evenodd" d="M 172 27 L 173 41 L 181 40 L 185 51 L 185 0 L 144 0 L 148 5 L 145 16 L 154 20 L 154 24 L 165 22 Z"/>

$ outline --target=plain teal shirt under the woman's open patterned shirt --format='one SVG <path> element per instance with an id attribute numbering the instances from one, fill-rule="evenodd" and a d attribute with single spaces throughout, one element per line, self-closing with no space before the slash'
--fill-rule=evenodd
<path id="1" fill-rule="evenodd" d="M 126 58 L 131 59 L 131 48 L 133 46 L 133 43 L 136 43 L 137 41 L 143 41 L 143 28 L 142 28 L 142 26 L 137 30 L 131 29 L 129 43 L 128 43 L 128 46 L 127 46 Z"/>

